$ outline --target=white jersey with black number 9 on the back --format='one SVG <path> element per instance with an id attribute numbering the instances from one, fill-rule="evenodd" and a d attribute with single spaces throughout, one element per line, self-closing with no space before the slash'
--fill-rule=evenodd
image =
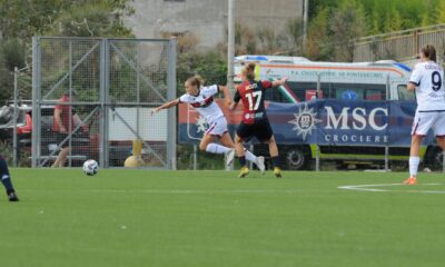
<path id="1" fill-rule="evenodd" d="M 417 110 L 445 111 L 444 69 L 433 61 L 414 67 L 409 82 L 416 85 Z"/>

